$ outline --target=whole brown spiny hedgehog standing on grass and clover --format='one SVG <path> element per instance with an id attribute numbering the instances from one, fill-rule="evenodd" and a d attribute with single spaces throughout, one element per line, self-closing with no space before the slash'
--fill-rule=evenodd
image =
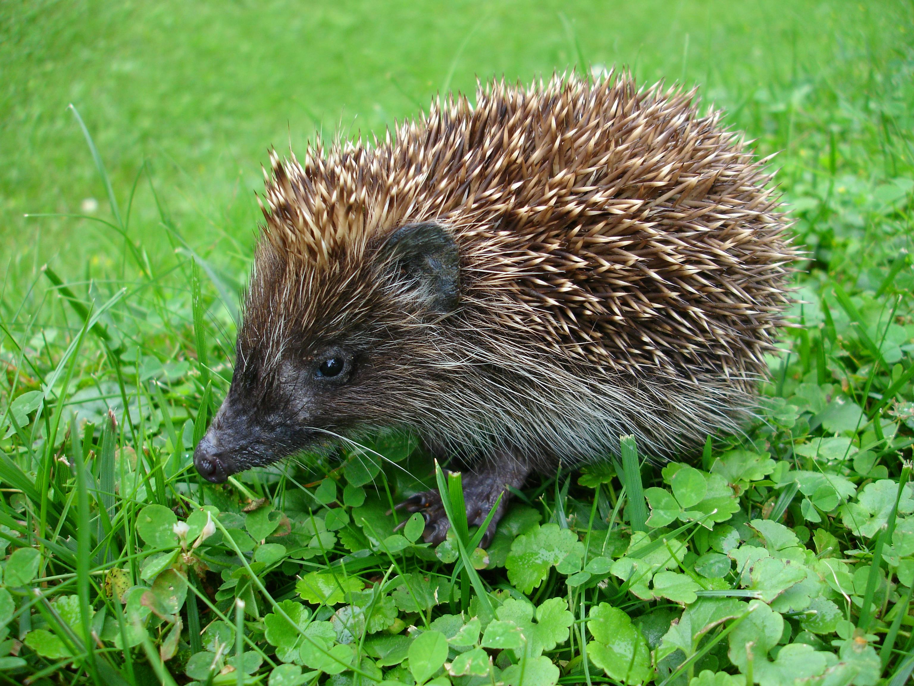
<path id="1" fill-rule="evenodd" d="M 461 469 L 470 524 L 497 502 L 486 544 L 533 473 L 622 435 L 662 463 L 738 433 L 798 253 L 766 160 L 720 120 L 695 91 L 572 73 L 271 152 L 200 475 L 397 427 Z M 436 491 L 398 509 L 444 539 Z"/>

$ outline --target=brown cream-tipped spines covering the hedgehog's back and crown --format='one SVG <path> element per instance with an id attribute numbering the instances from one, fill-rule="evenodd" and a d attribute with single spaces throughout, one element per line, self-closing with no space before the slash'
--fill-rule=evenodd
<path id="1" fill-rule="evenodd" d="M 357 327 L 387 287 L 371 251 L 438 221 L 462 252 L 453 323 L 479 346 L 748 390 L 796 251 L 764 188 L 770 158 L 753 161 L 751 142 L 698 106 L 695 89 L 639 88 L 627 70 L 502 78 L 478 82 L 474 103 L 439 95 L 371 147 L 317 140 L 303 163 L 271 151 L 264 239 L 295 293 L 273 331 Z"/>

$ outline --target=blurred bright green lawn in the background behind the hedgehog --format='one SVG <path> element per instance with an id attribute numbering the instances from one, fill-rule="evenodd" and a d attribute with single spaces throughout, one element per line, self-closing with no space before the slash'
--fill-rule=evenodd
<path id="1" fill-rule="evenodd" d="M 75 275 L 118 259 L 111 237 L 89 224 L 23 218 L 80 212 L 86 198 L 104 198 L 69 103 L 118 197 L 147 163 L 175 225 L 240 274 L 271 145 L 300 149 L 340 130 L 378 134 L 442 89 L 473 91 L 477 78 L 526 82 L 568 70 L 582 55 L 627 66 L 645 83 L 700 84 L 763 152 L 786 150 L 781 164 L 812 154 L 814 164 L 831 128 L 839 145 L 874 135 L 866 124 L 860 130 L 867 99 L 891 106 L 885 93 L 904 87 L 886 80 L 911 30 L 907 3 L 805 0 L 14 0 L 0 17 L 0 237 L 16 283 L 45 262 Z M 853 168 L 856 157 L 839 155 L 838 164 Z M 134 207 L 134 240 L 162 250 L 168 243 L 145 184 Z"/>

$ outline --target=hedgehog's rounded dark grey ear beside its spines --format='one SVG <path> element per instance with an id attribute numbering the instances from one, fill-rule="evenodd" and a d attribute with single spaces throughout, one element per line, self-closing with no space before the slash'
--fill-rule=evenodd
<path id="1" fill-rule="evenodd" d="M 447 315 L 460 301 L 460 252 L 451 231 L 433 221 L 406 224 L 380 248 L 381 259 L 410 284 L 409 294 L 432 313 Z"/>

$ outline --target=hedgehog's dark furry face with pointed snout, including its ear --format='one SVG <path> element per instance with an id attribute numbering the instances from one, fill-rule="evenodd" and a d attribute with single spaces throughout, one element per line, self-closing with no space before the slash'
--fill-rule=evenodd
<path id="1" fill-rule="evenodd" d="M 422 337 L 415 326 L 422 319 L 456 308 L 456 243 L 440 224 L 409 224 L 367 252 L 358 269 L 358 278 L 351 266 L 324 272 L 303 293 L 289 287 L 303 279 L 300 270 L 259 252 L 231 388 L 194 454 L 207 480 L 409 419 L 399 400 L 417 381 L 410 375 L 416 346 L 407 339 Z M 398 326 L 404 321 L 406 333 Z"/>

